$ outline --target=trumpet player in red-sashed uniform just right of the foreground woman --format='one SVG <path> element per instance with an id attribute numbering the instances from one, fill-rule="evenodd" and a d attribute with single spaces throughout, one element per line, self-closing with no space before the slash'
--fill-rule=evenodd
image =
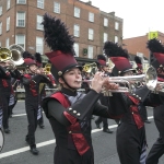
<path id="1" fill-rule="evenodd" d="M 129 62 L 127 50 L 112 42 L 106 42 L 104 50 L 114 62 L 114 77 L 129 77 L 134 69 Z M 131 83 L 131 82 L 130 82 Z M 127 86 L 128 87 L 128 86 Z M 128 113 L 120 119 L 117 128 L 116 144 L 121 164 L 144 164 L 147 156 L 147 140 L 141 105 L 156 106 L 162 104 L 160 95 L 152 94 L 144 85 L 133 93 L 120 93 L 127 102 Z M 120 106 L 120 108 L 122 108 Z"/>

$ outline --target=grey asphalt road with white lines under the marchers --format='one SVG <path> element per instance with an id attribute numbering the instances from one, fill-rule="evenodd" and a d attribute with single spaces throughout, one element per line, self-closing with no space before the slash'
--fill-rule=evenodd
<path id="1" fill-rule="evenodd" d="M 27 131 L 27 118 L 25 115 L 24 102 L 16 104 L 14 115 L 10 118 L 10 134 L 4 134 L 5 142 L 0 153 L 0 164 L 52 164 L 55 138 L 48 120 L 45 118 L 45 129 L 39 127 L 36 130 L 36 143 L 39 150 L 38 155 L 33 155 L 25 142 Z M 159 132 L 152 118 L 152 108 L 148 108 L 151 124 L 145 124 L 148 152 L 155 142 Z M 120 164 L 116 151 L 116 122 L 108 119 L 113 134 L 108 134 L 96 129 L 94 120 L 92 121 L 92 138 L 94 147 L 95 164 Z M 164 164 L 164 156 L 161 157 L 160 164 Z"/>

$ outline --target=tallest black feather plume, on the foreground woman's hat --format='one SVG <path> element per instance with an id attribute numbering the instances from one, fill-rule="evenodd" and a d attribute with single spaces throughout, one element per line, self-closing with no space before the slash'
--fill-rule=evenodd
<path id="1" fill-rule="evenodd" d="M 66 55 L 74 56 L 73 36 L 69 35 L 69 31 L 61 20 L 45 13 L 42 24 L 44 25 L 45 42 L 51 50 L 60 50 Z"/>

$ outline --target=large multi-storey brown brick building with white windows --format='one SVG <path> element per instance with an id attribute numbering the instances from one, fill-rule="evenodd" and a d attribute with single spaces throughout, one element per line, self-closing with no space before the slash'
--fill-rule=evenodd
<path id="1" fill-rule="evenodd" d="M 81 61 L 102 54 L 105 40 L 122 43 L 122 19 L 80 0 L 0 0 L 0 46 L 21 45 L 25 50 L 49 51 L 43 40 L 43 15 L 61 19 L 74 35 L 74 49 Z"/>

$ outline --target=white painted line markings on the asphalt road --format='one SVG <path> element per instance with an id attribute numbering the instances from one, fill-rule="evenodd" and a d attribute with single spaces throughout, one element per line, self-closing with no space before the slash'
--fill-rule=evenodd
<path id="1" fill-rule="evenodd" d="M 26 115 L 26 114 L 22 114 L 22 115 Z M 152 118 L 153 118 L 153 116 L 148 117 L 148 119 L 152 119 Z M 118 127 L 118 125 L 108 126 L 109 129 L 117 128 L 117 127 Z M 103 128 L 102 129 L 93 129 L 92 133 L 98 132 L 98 131 L 102 131 L 102 130 L 103 130 Z M 36 147 L 42 148 L 42 147 L 54 144 L 54 143 L 56 143 L 55 139 L 37 143 Z M 24 148 L 21 148 L 21 149 L 16 149 L 16 150 L 13 150 L 13 151 L 1 153 L 0 159 L 8 157 L 8 156 L 11 156 L 11 155 L 14 155 L 14 154 L 20 154 L 20 153 L 23 153 L 23 152 L 26 152 L 26 151 L 30 151 L 30 147 L 24 147 Z"/>

